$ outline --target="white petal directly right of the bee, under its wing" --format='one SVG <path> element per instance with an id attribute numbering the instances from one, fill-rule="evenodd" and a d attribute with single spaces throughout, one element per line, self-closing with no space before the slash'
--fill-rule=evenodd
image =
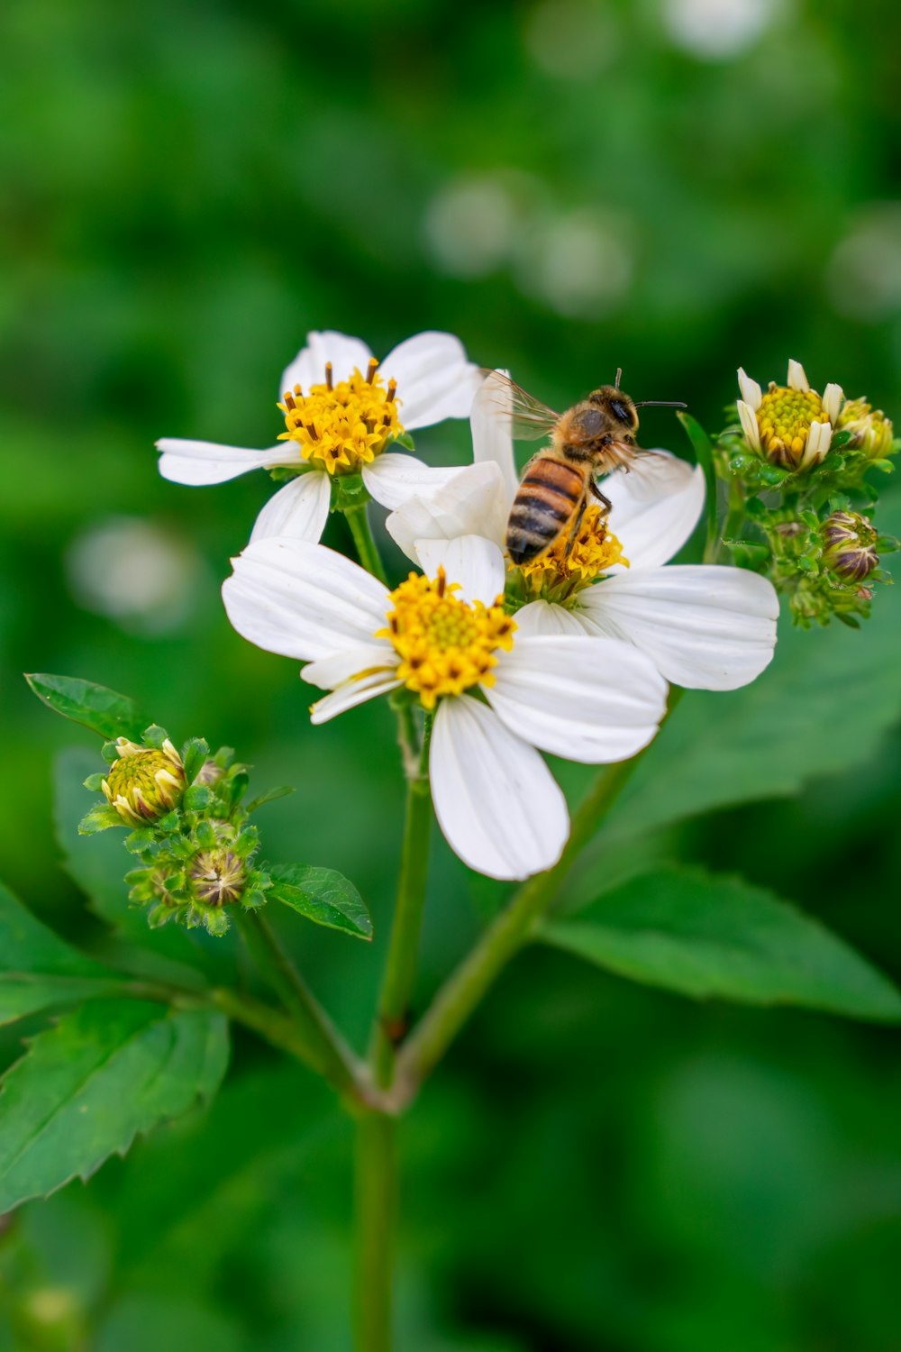
<path id="1" fill-rule="evenodd" d="M 642 461 L 640 473 L 611 475 L 602 491 L 613 503 L 611 530 L 632 569 L 667 562 L 704 511 L 702 469 L 667 452 Z"/>

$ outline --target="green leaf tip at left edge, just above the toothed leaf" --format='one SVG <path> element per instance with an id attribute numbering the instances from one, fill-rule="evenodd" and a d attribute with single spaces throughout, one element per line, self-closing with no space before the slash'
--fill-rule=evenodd
<path id="1" fill-rule="evenodd" d="M 122 986 L 123 977 L 61 940 L 0 884 L 0 1023 Z"/>

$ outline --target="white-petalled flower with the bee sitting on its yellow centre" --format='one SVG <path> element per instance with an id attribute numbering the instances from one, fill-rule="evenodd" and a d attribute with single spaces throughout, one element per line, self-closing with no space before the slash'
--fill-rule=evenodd
<path id="1" fill-rule="evenodd" d="M 423 539 L 478 534 L 503 545 L 519 483 L 503 397 L 490 377 L 475 396 L 475 462 L 389 515 L 390 534 L 413 561 Z M 775 645 L 771 583 L 740 568 L 669 562 L 697 525 L 704 491 L 701 469 L 666 452 L 605 479 L 609 516 L 592 504 L 571 544 L 562 537 L 524 568 L 507 561 L 508 589 L 524 602 L 520 631 L 620 638 L 688 688 L 735 690 L 759 676 Z"/>

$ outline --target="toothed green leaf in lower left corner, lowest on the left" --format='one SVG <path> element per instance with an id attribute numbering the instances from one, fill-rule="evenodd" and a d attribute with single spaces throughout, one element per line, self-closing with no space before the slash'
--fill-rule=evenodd
<path id="1" fill-rule="evenodd" d="M 93 1000 L 39 1033 L 3 1078 L 0 1211 L 88 1179 L 135 1136 L 211 1098 L 227 1022 L 207 1010 Z"/>

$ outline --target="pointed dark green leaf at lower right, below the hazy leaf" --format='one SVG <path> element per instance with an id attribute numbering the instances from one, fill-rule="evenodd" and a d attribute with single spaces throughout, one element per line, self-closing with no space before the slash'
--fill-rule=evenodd
<path id="1" fill-rule="evenodd" d="M 738 877 L 659 868 L 540 934 L 619 976 L 681 995 L 901 1019 L 901 994 L 866 959 L 819 921 Z"/>

